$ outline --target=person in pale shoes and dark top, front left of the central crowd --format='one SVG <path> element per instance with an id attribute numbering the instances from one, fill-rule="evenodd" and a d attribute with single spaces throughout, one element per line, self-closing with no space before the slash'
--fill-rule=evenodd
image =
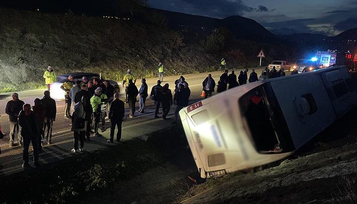
<path id="1" fill-rule="evenodd" d="M 84 107 L 82 101 L 78 102 L 74 106 L 74 112 L 72 114 L 72 127 L 71 131 L 73 132 L 73 149 L 72 152 L 81 152 L 84 148 L 84 139 L 87 130 L 87 122 L 86 122 L 86 112 L 84 111 Z M 80 149 L 78 149 L 78 141 L 80 141 Z"/>

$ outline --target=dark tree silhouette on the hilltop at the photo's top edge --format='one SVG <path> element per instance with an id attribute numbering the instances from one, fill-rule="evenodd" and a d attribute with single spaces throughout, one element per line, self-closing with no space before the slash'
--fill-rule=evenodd
<path id="1" fill-rule="evenodd" d="M 141 12 L 142 7 L 149 7 L 148 0 L 115 0 L 114 5 L 120 9 L 121 12 L 134 14 Z"/>

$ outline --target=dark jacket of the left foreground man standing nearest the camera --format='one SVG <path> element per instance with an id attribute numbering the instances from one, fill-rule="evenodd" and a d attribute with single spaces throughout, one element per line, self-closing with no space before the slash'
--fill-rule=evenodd
<path id="1" fill-rule="evenodd" d="M 18 115 L 18 124 L 21 127 L 21 136 L 24 138 L 38 137 L 41 134 L 36 115 L 33 112 L 30 115 L 25 115 L 25 112 L 21 111 Z"/>

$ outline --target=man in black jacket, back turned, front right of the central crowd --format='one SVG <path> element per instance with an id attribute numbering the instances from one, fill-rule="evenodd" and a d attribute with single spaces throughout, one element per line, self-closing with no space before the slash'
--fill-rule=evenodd
<path id="1" fill-rule="evenodd" d="M 121 139 L 121 124 L 123 122 L 124 117 L 124 102 L 119 99 L 119 93 L 114 94 L 114 100 L 112 102 L 112 105 L 110 106 L 108 117 L 110 119 L 111 127 L 110 138 L 109 140 L 107 140 L 107 142 L 113 143 L 115 126 L 118 129 L 118 132 L 116 134 L 116 141 L 119 142 Z"/>

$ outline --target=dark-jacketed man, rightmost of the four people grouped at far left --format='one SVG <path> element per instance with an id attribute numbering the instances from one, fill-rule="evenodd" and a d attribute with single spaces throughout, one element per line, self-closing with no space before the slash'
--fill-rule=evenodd
<path id="1" fill-rule="evenodd" d="M 54 121 L 56 120 L 56 114 L 57 114 L 57 107 L 56 107 L 56 101 L 51 98 L 49 91 L 45 91 L 43 98 L 41 99 L 41 103 L 43 107 L 45 108 L 45 118 L 44 118 L 44 125 L 43 127 L 43 133 L 46 133 L 46 127 L 47 127 L 47 133 L 46 133 L 46 142 L 47 144 L 51 143 L 52 139 L 52 126 Z"/>

